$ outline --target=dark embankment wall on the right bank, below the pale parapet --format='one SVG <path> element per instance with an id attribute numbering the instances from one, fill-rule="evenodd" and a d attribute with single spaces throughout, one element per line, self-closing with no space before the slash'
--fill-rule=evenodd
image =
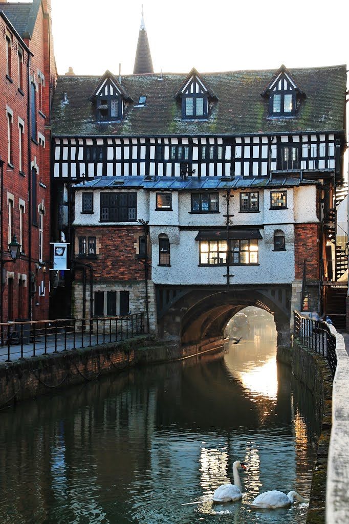
<path id="1" fill-rule="evenodd" d="M 307 524 L 325 522 L 326 475 L 332 427 L 332 375 L 324 357 L 293 340 L 292 373 L 314 395 L 321 426 L 317 460 L 314 464 Z"/>

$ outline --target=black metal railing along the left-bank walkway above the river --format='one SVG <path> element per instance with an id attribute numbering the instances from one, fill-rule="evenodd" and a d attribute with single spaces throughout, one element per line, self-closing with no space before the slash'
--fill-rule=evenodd
<path id="1" fill-rule="evenodd" d="M 93 319 L 7 322 L 0 324 L 0 361 L 121 342 L 143 333 L 143 312 Z"/>

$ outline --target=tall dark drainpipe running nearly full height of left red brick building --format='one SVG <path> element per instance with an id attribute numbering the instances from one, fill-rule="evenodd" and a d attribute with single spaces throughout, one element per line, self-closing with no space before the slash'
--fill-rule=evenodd
<path id="1" fill-rule="evenodd" d="M 31 194 L 31 113 L 30 113 L 30 54 L 27 63 L 27 119 L 28 119 L 28 206 L 29 206 L 29 228 L 28 228 L 28 318 L 32 320 L 32 282 L 31 282 L 31 228 L 32 228 L 32 194 Z"/>

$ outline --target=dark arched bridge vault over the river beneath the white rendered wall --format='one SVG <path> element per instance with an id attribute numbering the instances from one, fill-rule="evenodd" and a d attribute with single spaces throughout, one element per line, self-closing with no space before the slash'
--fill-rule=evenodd
<path id="1" fill-rule="evenodd" d="M 275 286 L 157 286 L 159 336 L 181 345 L 222 339 L 228 321 L 254 305 L 272 315 L 278 354 L 290 345 L 291 285 Z"/>

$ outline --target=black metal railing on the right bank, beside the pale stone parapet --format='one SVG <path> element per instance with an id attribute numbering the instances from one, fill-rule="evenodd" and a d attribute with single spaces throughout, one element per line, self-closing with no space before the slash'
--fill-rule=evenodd
<path id="1" fill-rule="evenodd" d="M 293 315 L 293 335 L 311 351 L 326 358 L 334 377 L 337 366 L 336 338 L 332 335 L 328 324 L 322 320 L 303 316 L 298 311 L 294 311 Z"/>

